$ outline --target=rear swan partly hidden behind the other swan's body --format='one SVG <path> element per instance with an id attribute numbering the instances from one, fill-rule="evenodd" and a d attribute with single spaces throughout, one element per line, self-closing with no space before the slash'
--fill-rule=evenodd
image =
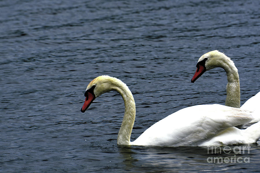
<path id="1" fill-rule="evenodd" d="M 221 67 L 226 71 L 228 83 L 226 85 L 226 106 L 240 108 L 240 86 L 238 70 L 234 62 L 224 53 L 218 50 L 203 54 L 196 65 L 197 70 L 191 80 L 194 83 L 204 72 L 215 67 Z M 248 99 L 241 109 L 252 111 L 253 119 L 250 123 L 260 121 L 260 92 Z"/>

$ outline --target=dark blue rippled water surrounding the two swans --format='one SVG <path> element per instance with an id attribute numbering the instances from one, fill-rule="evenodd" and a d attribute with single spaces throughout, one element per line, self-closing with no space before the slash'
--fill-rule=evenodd
<path id="1" fill-rule="evenodd" d="M 237 154 L 250 163 L 208 163 L 234 156 L 223 147 L 118 146 L 118 93 L 80 112 L 100 75 L 133 93 L 131 140 L 179 109 L 224 104 L 223 69 L 190 82 L 215 49 L 235 62 L 243 104 L 260 91 L 259 20 L 258 0 L 0 1 L 0 172 L 259 172 L 260 142 Z"/>

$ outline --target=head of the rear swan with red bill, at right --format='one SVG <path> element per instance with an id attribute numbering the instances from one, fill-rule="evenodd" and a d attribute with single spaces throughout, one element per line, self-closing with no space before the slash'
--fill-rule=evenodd
<path id="1" fill-rule="evenodd" d="M 210 69 L 213 69 L 215 67 L 224 68 L 224 65 L 226 64 L 225 61 L 231 60 L 224 53 L 219 52 L 218 50 L 213 50 L 205 53 L 198 59 L 198 63 L 196 65 L 197 70 L 191 82 L 194 83 L 204 72 Z"/>

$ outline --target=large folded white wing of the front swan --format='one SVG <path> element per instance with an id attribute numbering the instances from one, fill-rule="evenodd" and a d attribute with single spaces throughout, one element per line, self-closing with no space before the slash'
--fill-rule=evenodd
<path id="1" fill-rule="evenodd" d="M 221 131 L 252 120 L 249 111 L 219 104 L 181 109 L 158 121 L 132 145 L 196 146 Z"/>

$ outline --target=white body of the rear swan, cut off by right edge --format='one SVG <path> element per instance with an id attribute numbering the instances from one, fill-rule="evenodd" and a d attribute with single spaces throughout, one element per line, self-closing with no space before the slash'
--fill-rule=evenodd
<path id="1" fill-rule="evenodd" d="M 253 120 L 250 123 L 260 121 L 260 92 L 255 96 L 248 99 L 242 106 L 241 109 L 246 109 L 252 111 Z"/>

